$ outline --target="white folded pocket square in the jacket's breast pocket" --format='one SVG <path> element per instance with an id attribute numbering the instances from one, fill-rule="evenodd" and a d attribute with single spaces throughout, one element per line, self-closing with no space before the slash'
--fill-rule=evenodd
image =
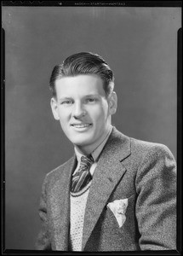
<path id="1" fill-rule="evenodd" d="M 125 212 L 128 207 L 128 198 L 115 200 L 107 204 L 107 207 L 113 212 L 117 223 L 121 228 L 126 220 Z"/>

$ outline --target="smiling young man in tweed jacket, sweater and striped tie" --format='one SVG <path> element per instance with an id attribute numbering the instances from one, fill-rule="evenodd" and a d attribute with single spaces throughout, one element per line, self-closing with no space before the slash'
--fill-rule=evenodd
<path id="1" fill-rule="evenodd" d="M 51 108 L 75 154 L 45 177 L 39 250 L 176 249 L 174 156 L 111 125 L 113 87 L 100 55 L 78 53 L 54 67 Z"/>

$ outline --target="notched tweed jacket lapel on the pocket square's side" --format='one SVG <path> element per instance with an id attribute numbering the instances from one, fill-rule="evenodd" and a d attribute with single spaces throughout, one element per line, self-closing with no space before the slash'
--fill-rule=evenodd
<path id="1" fill-rule="evenodd" d="M 113 128 L 112 134 L 100 155 L 89 189 L 89 197 L 83 225 L 83 249 L 113 189 L 123 177 L 126 169 L 121 161 L 130 154 L 130 140 Z"/>

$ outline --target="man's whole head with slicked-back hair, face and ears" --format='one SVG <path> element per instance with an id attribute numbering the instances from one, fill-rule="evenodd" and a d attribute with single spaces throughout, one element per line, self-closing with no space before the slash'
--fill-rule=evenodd
<path id="1" fill-rule="evenodd" d="M 99 55 L 71 55 L 54 67 L 50 86 L 54 119 L 71 143 L 91 153 L 105 139 L 117 109 L 111 69 Z"/>

